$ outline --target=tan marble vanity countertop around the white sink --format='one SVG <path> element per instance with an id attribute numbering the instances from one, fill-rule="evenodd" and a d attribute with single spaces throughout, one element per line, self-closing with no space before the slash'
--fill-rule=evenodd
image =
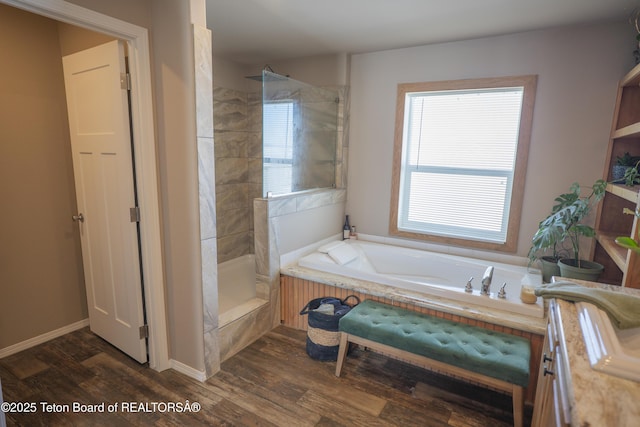
<path id="1" fill-rule="evenodd" d="M 640 295 L 637 289 L 573 280 L 588 287 Z M 569 357 L 571 424 L 573 426 L 640 425 L 640 382 L 595 371 L 582 337 L 575 304 L 557 300 L 561 313 L 564 345 Z"/>

